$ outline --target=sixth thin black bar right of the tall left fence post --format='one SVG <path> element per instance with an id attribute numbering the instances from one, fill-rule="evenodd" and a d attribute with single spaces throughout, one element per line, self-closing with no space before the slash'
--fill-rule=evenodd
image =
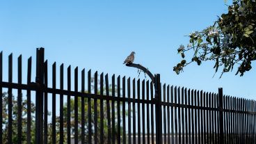
<path id="1" fill-rule="evenodd" d="M 85 70 L 83 69 L 81 72 L 81 93 L 85 93 Z M 85 117 L 85 104 L 84 97 L 81 97 L 81 144 L 85 143 L 85 125 L 86 125 L 86 117 Z"/>

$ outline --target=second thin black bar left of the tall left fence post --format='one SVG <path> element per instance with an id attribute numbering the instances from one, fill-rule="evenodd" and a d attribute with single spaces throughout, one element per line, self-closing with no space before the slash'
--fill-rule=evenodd
<path id="1" fill-rule="evenodd" d="M 22 84 L 22 55 L 18 58 L 18 83 Z M 18 105 L 18 111 L 17 111 L 17 137 L 18 137 L 18 143 L 22 143 L 22 89 L 18 89 L 17 93 L 17 105 Z"/>

